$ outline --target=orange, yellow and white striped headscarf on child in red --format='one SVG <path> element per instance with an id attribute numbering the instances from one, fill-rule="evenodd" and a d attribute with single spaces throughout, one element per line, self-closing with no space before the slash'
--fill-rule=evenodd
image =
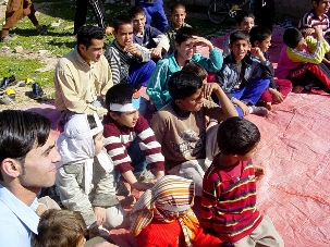
<path id="1" fill-rule="evenodd" d="M 187 246 L 192 246 L 198 220 L 191 209 L 194 182 L 175 175 L 163 176 L 147 189 L 131 211 L 130 232 L 136 236 L 152 219 L 163 223 L 179 220 Z"/>

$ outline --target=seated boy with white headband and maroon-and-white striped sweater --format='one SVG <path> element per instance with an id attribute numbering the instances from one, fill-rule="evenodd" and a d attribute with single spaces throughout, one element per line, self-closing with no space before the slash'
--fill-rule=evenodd
<path id="1" fill-rule="evenodd" d="M 152 184 L 139 183 L 135 175 L 148 164 L 148 170 L 159 180 L 164 174 L 164 158 L 148 122 L 138 113 L 138 101 L 139 96 L 136 97 L 129 84 L 114 85 L 106 95 L 108 114 L 102 123 L 106 149 L 117 172 L 132 187 L 146 190 Z"/>

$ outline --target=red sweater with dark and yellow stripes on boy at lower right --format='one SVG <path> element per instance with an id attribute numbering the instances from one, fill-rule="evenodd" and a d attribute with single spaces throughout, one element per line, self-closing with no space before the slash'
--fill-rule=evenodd
<path id="1" fill-rule="evenodd" d="M 262 220 L 256 209 L 253 163 L 245 161 L 242 165 L 242 175 L 237 180 L 213 162 L 203 181 L 203 226 L 212 229 L 220 239 L 230 243 L 249 235 Z"/>

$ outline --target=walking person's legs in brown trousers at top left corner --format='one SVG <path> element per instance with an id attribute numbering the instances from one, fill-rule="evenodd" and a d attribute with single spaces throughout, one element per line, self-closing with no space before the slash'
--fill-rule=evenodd
<path id="1" fill-rule="evenodd" d="M 9 29 L 13 28 L 17 22 L 27 16 L 34 24 L 38 33 L 41 33 L 42 26 L 39 25 L 35 15 L 36 10 L 30 0 L 9 0 L 5 10 L 5 22 L 2 25 L 1 41 L 11 41 L 14 38 L 9 35 Z"/>

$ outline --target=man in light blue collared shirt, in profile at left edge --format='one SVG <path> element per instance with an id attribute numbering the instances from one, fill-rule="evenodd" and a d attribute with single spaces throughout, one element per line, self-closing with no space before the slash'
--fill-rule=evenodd
<path id="1" fill-rule="evenodd" d="M 37 194 L 56 181 L 56 148 L 50 121 L 27 111 L 0 112 L 0 239 L 7 247 L 30 246 L 37 234 Z"/>

